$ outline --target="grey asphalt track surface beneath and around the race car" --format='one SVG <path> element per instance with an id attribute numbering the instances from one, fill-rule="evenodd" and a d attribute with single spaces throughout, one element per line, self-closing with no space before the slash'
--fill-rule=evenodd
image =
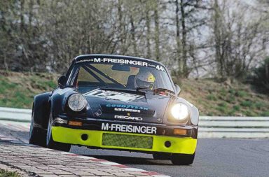
<path id="1" fill-rule="evenodd" d="M 27 141 L 28 132 L 0 132 Z M 153 160 L 151 155 L 116 150 L 92 150 L 72 146 L 72 153 L 156 171 L 170 176 L 269 176 L 269 139 L 200 139 L 191 166 L 174 166 L 167 160 Z"/>

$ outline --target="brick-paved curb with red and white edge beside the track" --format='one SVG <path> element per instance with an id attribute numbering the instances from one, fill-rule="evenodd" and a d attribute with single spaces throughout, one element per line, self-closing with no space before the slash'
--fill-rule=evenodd
<path id="1" fill-rule="evenodd" d="M 75 166 L 75 162 L 81 163 L 81 165 Z M 55 167 L 53 167 L 54 165 L 51 165 L 51 163 L 54 163 Z M 33 176 L 33 174 L 34 176 L 67 176 L 67 174 L 69 174 L 69 176 L 169 177 L 154 171 L 127 167 L 123 164 L 109 162 L 95 157 L 34 146 L 1 134 L 0 164 L 25 171 L 29 176 Z M 84 170 L 85 172 L 83 172 Z"/>

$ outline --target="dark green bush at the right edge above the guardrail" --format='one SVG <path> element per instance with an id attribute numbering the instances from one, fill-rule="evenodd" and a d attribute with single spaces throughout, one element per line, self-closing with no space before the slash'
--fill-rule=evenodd
<path id="1" fill-rule="evenodd" d="M 254 69 L 254 75 L 251 76 L 251 82 L 259 90 L 269 94 L 269 57 L 267 57 L 261 66 Z"/>

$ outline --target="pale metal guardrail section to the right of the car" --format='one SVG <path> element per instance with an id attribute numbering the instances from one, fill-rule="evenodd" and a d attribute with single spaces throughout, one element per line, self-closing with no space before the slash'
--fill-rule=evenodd
<path id="1" fill-rule="evenodd" d="M 269 117 L 200 116 L 200 138 L 269 138 Z"/>

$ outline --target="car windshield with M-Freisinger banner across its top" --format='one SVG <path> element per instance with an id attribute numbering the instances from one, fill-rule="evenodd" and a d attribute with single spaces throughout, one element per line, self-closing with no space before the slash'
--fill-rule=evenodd
<path id="1" fill-rule="evenodd" d="M 133 59 L 94 58 L 76 62 L 67 85 L 88 92 L 98 87 L 137 90 L 163 88 L 174 92 L 163 66 Z"/>

